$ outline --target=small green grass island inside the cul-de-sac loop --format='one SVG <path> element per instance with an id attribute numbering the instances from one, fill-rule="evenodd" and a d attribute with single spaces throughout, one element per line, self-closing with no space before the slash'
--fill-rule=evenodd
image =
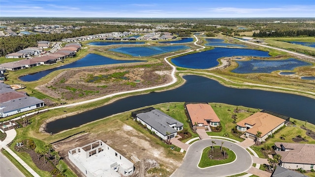
<path id="1" fill-rule="evenodd" d="M 221 148 L 220 146 L 214 146 L 214 148 Z M 226 153 L 228 154 L 228 158 L 227 159 L 223 159 L 223 160 L 215 160 L 215 159 L 210 159 L 208 157 L 208 152 L 209 150 L 211 150 L 211 147 L 207 147 L 204 148 L 202 151 L 202 155 L 201 155 L 201 159 L 200 162 L 198 164 L 198 167 L 200 168 L 206 168 L 206 167 L 211 167 L 214 165 L 220 165 L 220 164 L 226 164 L 226 163 L 230 163 L 233 162 L 236 159 L 236 155 L 232 150 L 229 150 L 228 148 L 226 148 Z"/>

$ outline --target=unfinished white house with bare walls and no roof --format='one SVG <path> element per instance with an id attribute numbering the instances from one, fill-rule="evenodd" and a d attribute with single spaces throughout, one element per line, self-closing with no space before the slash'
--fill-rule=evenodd
<path id="1" fill-rule="evenodd" d="M 134 172 L 132 162 L 101 140 L 69 150 L 68 157 L 86 177 L 122 177 Z"/>

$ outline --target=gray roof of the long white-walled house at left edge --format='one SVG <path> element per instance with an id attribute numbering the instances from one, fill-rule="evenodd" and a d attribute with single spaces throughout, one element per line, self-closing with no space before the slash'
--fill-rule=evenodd
<path id="1" fill-rule="evenodd" d="M 32 96 L 24 96 L 0 103 L 0 113 L 9 113 L 14 110 L 26 108 L 40 103 L 44 103 L 44 101 Z"/>

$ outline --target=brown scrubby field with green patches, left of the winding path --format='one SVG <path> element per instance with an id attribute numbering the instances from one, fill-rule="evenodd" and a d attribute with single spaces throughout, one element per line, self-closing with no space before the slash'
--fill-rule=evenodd
<path id="1" fill-rule="evenodd" d="M 164 63 L 119 64 L 66 70 L 36 89 L 60 99 L 82 100 L 118 91 L 163 85 L 171 80 L 171 67 Z"/>

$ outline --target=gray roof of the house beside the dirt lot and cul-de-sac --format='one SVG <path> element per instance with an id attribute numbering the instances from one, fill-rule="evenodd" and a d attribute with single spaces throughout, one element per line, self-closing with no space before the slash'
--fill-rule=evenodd
<path id="1" fill-rule="evenodd" d="M 175 124 L 175 127 L 184 125 L 182 122 L 156 109 L 146 113 L 139 113 L 136 117 L 140 118 L 164 136 L 166 136 L 166 132 L 170 134 L 177 132 L 174 128 L 169 126 L 170 124 Z"/>

